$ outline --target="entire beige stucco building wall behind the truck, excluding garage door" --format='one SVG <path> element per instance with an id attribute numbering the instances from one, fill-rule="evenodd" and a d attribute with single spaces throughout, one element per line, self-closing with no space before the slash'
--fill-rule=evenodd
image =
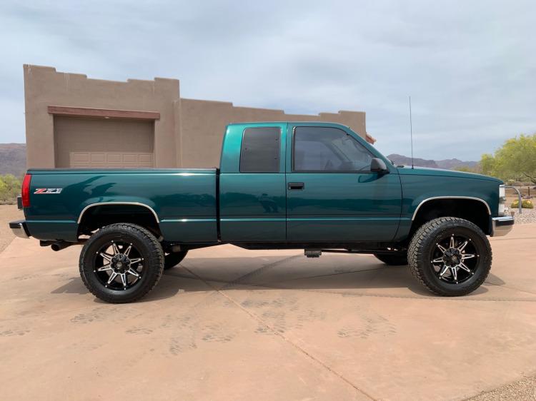
<path id="1" fill-rule="evenodd" d="M 361 111 L 295 115 L 282 110 L 180 98 L 177 79 L 104 81 L 56 72 L 51 67 L 24 65 L 24 94 L 29 168 L 56 167 L 54 116 L 49 114 L 48 106 L 159 112 L 160 118 L 154 121 L 155 167 L 218 166 L 228 123 L 332 121 L 349 126 L 364 138 L 367 132 L 365 113 Z"/>

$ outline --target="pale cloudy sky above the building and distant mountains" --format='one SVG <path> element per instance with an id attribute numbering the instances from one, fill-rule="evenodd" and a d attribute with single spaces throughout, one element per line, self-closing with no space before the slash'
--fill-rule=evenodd
<path id="1" fill-rule="evenodd" d="M 365 111 L 385 155 L 480 160 L 536 132 L 536 2 L 13 1 L 0 4 L 0 143 L 24 142 L 23 64 L 179 78 L 181 96 Z"/>

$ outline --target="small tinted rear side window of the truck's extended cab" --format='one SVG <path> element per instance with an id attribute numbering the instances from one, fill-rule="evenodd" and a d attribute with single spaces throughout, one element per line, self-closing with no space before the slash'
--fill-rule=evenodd
<path id="1" fill-rule="evenodd" d="M 246 128 L 240 151 L 240 172 L 279 173 L 280 139 L 278 127 Z"/>

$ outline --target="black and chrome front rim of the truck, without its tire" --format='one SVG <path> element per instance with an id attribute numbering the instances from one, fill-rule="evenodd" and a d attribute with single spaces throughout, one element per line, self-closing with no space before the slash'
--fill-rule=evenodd
<path id="1" fill-rule="evenodd" d="M 465 235 L 445 234 L 438 238 L 430 257 L 437 278 L 460 284 L 469 280 L 478 267 L 478 250 Z"/>

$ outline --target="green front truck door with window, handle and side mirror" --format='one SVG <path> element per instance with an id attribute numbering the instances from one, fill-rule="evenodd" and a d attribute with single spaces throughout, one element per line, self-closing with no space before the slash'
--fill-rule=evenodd
<path id="1" fill-rule="evenodd" d="M 288 135 L 288 240 L 394 238 L 402 203 L 396 168 L 371 172 L 370 162 L 379 155 L 346 127 L 289 124 Z"/>

